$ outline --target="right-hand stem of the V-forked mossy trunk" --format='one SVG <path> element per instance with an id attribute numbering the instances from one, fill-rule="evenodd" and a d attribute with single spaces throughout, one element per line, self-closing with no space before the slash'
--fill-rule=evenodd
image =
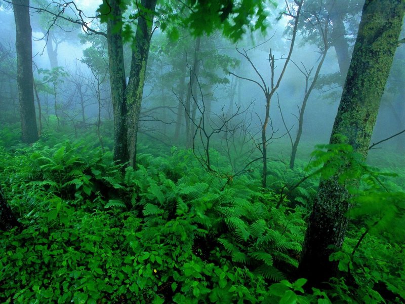
<path id="1" fill-rule="evenodd" d="M 141 0 L 145 8 L 138 19 L 132 50 L 131 71 L 126 89 L 127 140 L 130 166 L 136 164 L 136 146 L 138 138 L 139 114 L 141 112 L 143 86 L 145 83 L 146 64 L 148 62 L 150 39 L 152 35 L 153 12 L 157 0 Z"/>

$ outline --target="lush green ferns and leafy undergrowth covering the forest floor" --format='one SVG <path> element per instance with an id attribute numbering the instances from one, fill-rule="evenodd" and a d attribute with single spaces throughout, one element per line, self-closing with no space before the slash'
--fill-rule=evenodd
<path id="1" fill-rule="evenodd" d="M 297 161 L 296 171 L 271 163 L 265 191 L 260 170 L 229 182 L 206 172 L 188 150 L 157 156 L 141 145 L 134 170 L 95 146 L 58 142 L 50 133 L 30 147 L 0 148 L 0 180 L 23 224 L 0 234 L 2 302 L 331 303 L 361 297 L 374 303 L 405 297 L 403 189 L 392 174 L 355 166 L 348 174 L 363 178 L 361 192 L 345 246 L 331 258 L 354 284 L 333 280 L 329 289 L 304 290 L 306 280 L 294 273 L 318 175 L 294 185 L 330 161 L 330 146 L 318 147 L 309 167 Z M 349 148 L 337 149 L 352 157 Z"/>

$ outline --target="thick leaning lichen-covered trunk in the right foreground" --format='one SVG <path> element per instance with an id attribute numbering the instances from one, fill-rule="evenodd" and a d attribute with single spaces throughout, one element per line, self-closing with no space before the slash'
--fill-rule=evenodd
<path id="1" fill-rule="evenodd" d="M 330 142 L 347 137 L 354 151 L 367 157 L 381 96 L 391 68 L 401 30 L 405 2 L 367 0 L 358 30 L 338 114 Z M 349 164 L 342 164 L 342 168 Z M 338 176 L 321 180 L 305 235 L 300 275 L 319 284 L 337 275 L 329 256 L 342 247 L 346 212 L 350 209 L 345 186 Z M 334 248 L 328 248 L 333 245 Z"/>

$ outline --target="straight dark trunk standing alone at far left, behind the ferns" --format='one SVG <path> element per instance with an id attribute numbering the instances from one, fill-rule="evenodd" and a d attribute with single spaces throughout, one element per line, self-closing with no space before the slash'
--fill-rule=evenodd
<path id="1" fill-rule="evenodd" d="M 17 84 L 20 100 L 22 141 L 38 140 L 32 77 L 32 37 L 29 0 L 12 0 L 16 22 Z"/>

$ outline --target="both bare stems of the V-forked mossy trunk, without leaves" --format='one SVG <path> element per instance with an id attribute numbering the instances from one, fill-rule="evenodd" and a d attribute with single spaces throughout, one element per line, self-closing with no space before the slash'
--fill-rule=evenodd
<path id="1" fill-rule="evenodd" d="M 142 0 L 134 43 L 131 69 L 126 82 L 123 46 L 123 21 L 119 0 L 108 1 L 111 8 L 107 22 L 107 44 L 111 99 L 114 111 L 114 160 L 136 163 L 136 143 L 142 104 L 156 0 Z"/>

